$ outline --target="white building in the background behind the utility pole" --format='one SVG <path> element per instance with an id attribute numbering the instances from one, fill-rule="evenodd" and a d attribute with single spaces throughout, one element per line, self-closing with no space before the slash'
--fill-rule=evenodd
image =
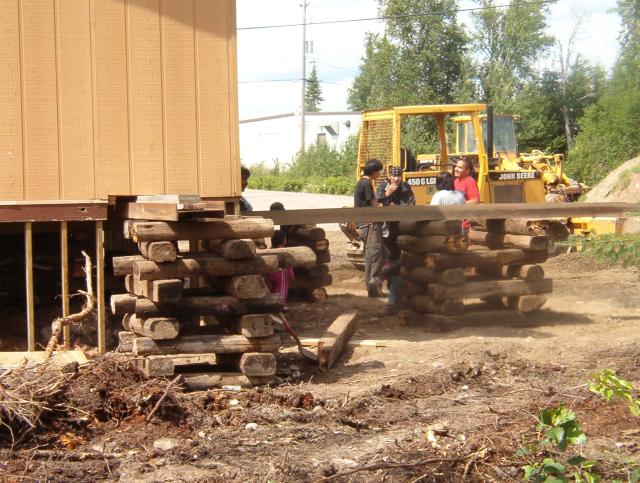
<path id="1" fill-rule="evenodd" d="M 305 114 L 305 146 L 316 142 L 340 149 L 360 130 L 359 112 L 307 112 Z M 300 150 L 300 116 L 277 114 L 240 121 L 240 159 L 251 166 L 276 161 L 288 164 Z"/>

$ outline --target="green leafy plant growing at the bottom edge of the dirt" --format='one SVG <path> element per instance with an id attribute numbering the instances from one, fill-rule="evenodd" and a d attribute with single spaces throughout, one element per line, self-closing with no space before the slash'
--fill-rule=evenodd
<path id="1" fill-rule="evenodd" d="M 592 470 L 596 465 L 580 454 L 558 461 L 555 452 L 564 453 L 570 447 L 582 446 L 587 436 L 580 429 L 576 414 L 563 406 L 545 409 L 538 415 L 540 440 L 520 448 L 516 456 L 543 457 L 542 461 L 532 461 L 522 467 L 524 479 L 536 483 L 595 483 L 600 477 Z M 550 448 L 551 447 L 551 448 Z"/>

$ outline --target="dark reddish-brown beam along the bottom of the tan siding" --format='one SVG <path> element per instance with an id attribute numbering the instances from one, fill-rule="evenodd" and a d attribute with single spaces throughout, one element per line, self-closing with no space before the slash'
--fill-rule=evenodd
<path id="1" fill-rule="evenodd" d="M 94 221 L 107 219 L 107 203 L 99 200 L 65 202 L 2 201 L 0 223 Z"/>

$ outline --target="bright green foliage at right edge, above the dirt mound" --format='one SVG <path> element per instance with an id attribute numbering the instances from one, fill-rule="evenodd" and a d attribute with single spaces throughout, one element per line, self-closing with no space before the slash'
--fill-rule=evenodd
<path id="1" fill-rule="evenodd" d="M 597 103 L 579 120 L 567 171 L 597 183 L 640 153 L 640 2 L 618 0 L 622 21 L 620 55 Z"/>

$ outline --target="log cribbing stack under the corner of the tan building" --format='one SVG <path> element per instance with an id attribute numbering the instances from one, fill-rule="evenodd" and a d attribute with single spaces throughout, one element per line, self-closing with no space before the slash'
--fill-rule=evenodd
<path id="1" fill-rule="evenodd" d="M 147 376 L 183 372 L 192 388 L 270 382 L 281 343 L 274 317 L 284 306 L 265 275 L 316 264 L 307 247 L 257 250 L 253 240 L 272 234 L 273 222 L 260 217 L 126 220 L 140 255 L 113 259 L 127 289 L 111 298 L 122 316 L 120 349 Z M 183 240 L 199 249 L 180 253 Z"/>

